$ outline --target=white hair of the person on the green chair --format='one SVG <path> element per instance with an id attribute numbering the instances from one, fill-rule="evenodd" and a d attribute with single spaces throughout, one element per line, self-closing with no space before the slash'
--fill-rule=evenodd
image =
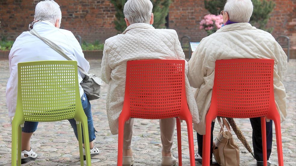
<path id="1" fill-rule="evenodd" d="M 55 25 L 58 19 L 61 24 L 62 13 L 60 6 L 54 0 L 41 1 L 35 8 L 35 20 L 49 21 Z"/>

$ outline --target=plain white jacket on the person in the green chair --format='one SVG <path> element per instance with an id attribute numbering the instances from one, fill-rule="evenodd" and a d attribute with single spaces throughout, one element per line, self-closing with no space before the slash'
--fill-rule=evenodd
<path id="1" fill-rule="evenodd" d="M 45 37 L 60 46 L 71 59 L 86 72 L 89 71 L 89 62 L 84 58 L 79 42 L 72 32 L 65 29 L 58 29 L 48 21 L 37 22 L 33 25 L 40 36 Z M 44 41 L 30 34 L 23 32 L 15 40 L 9 53 L 10 77 L 6 88 L 6 104 L 9 117 L 14 116 L 17 104 L 17 64 L 19 62 L 45 61 L 45 60 L 67 60 L 55 50 L 50 48 Z M 84 74 L 82 74 L 85 77 Z M 78 72 L 78 81 L 82 81 L 81 73 Z M 79 84 L 80 96 L 83 89 Z"/>

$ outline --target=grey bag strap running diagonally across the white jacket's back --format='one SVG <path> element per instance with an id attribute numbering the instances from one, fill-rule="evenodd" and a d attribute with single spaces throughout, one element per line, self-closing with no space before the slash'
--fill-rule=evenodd
<path id="1" fill-rule="evenodd" d="M 39 39 L 41 39 L 42 41 L 44 41 L 44 43 L 46 43 L 49 47 L 51 47 L 52 49 L 54 49 L 56 52 L 58 52 L 59 54 L 61 54 L 61 56 L 63 56 L 64 58 L 66 58 L 69 61 L 72 61 L 72 59 L 67 56 L 64 51 L 61 49 L 61 47 L 59 47 L 57 44 L 55 44 L 54 42 L 50 41 L 47 38 L 41 37 L 39 35 L 39 33 L 37 33 L 34 29 L 31 29 L 29 31 L 32 35 L 37 36 Z M 77 65 L 77 68 L 79 71 L 81 71 L 83 74 L 87 75 L 86 71 L 83 70 L 83 68 L 81 68 L 79 65 Z"/>

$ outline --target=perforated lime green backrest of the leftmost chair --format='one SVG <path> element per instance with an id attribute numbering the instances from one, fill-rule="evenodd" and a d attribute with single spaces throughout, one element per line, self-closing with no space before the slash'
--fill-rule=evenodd
<path id="1" fill-rule="evenodd" d="M 18 79 L 17 103 L 22 103 L 18 107 L 22 107 L 25 121 L 74 118 L 76 101 L 80 102 L 76 61 L 18 63 Z"/>

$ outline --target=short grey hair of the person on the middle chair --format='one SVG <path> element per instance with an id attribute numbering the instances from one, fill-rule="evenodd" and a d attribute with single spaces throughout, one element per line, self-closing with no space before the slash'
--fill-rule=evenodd
<path id="1" fill-rule="evenodd" d="M 130 24 L 150 23 L 153 5 L 150 0 L 128 0 L 123 8 L 124 17 Z"/>

